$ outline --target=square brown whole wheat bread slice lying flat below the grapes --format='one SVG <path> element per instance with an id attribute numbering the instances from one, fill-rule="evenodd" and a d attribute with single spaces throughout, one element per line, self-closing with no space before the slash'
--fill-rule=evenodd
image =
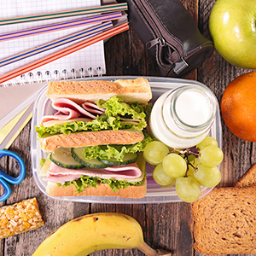
<path id="1" fill-rule="evenodd" d="M 207 255 L 256 253 L 256 187 L 215 188 L 195 201 L 195 250 Z"/>

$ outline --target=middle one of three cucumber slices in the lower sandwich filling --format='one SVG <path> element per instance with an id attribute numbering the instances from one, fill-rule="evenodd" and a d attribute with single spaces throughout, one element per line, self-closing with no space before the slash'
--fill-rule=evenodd
<path id="1" fill-rule="evenodd" d="M 86 167 L 95 168 L 95 169 L 102 169 L 109 167 L 108 164 L 102 163 L 96 159 L 86 159 L 84 157 L 84 148 L 71 148 L 71 153 L 74 160 L 79 161 L 79 163 L 83 164 Z"/>

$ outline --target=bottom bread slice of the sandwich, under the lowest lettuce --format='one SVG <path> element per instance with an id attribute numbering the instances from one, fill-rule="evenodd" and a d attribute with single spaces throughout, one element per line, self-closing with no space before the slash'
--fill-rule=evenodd
<path id="1" fill-rule="evenodd" d="M 124 198 L 143 198 L 147 194 L 147 179 L 140 185 L 133 186 L 129 188 L 119 189 L 117 192 L 113 190 L 106 183 L 98 183 L 97 188 L 87 187 L 82 193 L 76 193 L 76 188 L 71 184 L 70 187 L 65 189 L 57 183 L 47 183 L 46 193 L 51 196 L 119 196 Z"/>

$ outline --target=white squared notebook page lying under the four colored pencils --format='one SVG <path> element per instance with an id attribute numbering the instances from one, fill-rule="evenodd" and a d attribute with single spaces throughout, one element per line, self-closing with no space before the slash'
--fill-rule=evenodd
<path id="1" fill-rule="evenodd" d="M 99 5 L 101 5 L 100 0 L 86 0 L 86 1 L 84 0 L 73 0 L 73 1 L 70 1 L 70 0 L 69 1 L 68 0 L 61 0 L 61 1 L 60 0 L 42 0 L 42 1 L 1 0 L 0 14 L 1 14 L 1 18 L 11 18 L 11 17 L 24 16 L 24 15 L 44 14 L 49 12 L 61 11 L 61 10 L 82 9 L 84 7 L 94 7 Z M 32 22 L 26 22 L 26 23 L 14 24 L 14 25 L 0 26 L 0 33 L 2 34 L 5 32 L 16 32 L 16 31 L 27 29 L 27 28 L 55 24 L 61 21 L 76 20 L 81 17 L 85 17 L 85 15 L 81 15 L 73 18 L 71 17 L 71 18 L 60 18 L 60 19 L 54 19 L 54 20 L 39 20 L 39 21 L 32 21 Z M 20 38 L 20 39 L 14 39 L 14 40 L 2 42 L 0 43 L 0 59 L 18 54 L 24 50 L 32 49 L 42 44 L 49 43 L 55 39 L 73 34 L 73 32 L 79 32 L 86 27 L 88 26 L 80 26 L 77 28 L 70 28 L 70 29 L 62 30 L 58 32 L 49 32 L 49 33 L 44 33 L 44 34 L 36 35 L 32 37 L 26 37 L 26 38 Z M 75 41 L 75 43 L 81 40 L 82 39 L 77 40 Z M 44 57 L 45 55 L 54 53 L 59 49 L 66 48 L 71 44 L 74 44 L 74 43 L 66 44 L 56 49 L 51 49 L 44 53 L 9 64 L 8 66 L 1 67 L 0 75 L 2 75 L 3 73 L 7 73 L 9 71 L 15 70 L 15 68 L 17 67 L 22 67 L 32 61 L 36 61 Z M 53 76 L 55 70 L 57 70 L 61 78 L 62 71 L 66 69 L 67 73 L 69 74 L 69 77 L 73 77 L 70 71 L 72 69 L 75 69 L 76 75 L 79 76 L 79 69 L 81 67 L 83 67 L 85 71 L 87 71 L 89 67 L 92 67 L 94 75 L 97 74 L 96 67 L 101 67 L 102 73 L 105 73 L 106 67 L 105 67 L 105 59 L 104 59 L 103 42 L 93 44 L 90 47 L 87 47 L 86 49 L 81 49 L 76 53 L 67 55 L 59 60 L 53 61 L 47 65 L 44 65 L 43 67 L 39 67 L 38 69 L 33 70 L 32 73 L 33 73 L 34 79 L 37 79 L 38 72 L 41 72 L 43 74 L 43 77 L 46 78 L 45 73 L 47 71 L 49 71 L 51 76 Z M 28 73 L 26 73 L 25 79 L 26 80 L 31 79 L 31 77 L 28 76 Z M 20 81 L 20 78 L 17 78 L 15 80 Z"/>

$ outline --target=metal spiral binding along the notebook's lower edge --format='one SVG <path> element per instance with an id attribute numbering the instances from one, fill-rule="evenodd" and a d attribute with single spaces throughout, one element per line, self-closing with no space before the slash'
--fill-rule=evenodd
<path id="1" fill-rule="evenodd" d="M 55 70 L 53 73 L 50 71 L 46 71 L 44 74 L 42 72 L 37 73 L 27 73 L 27 75 L 22 74 L 20 78 L 12 79 L 6 83 L 0 84 L 0 87 L 9 87 L 9 86 L 17 86 L 19 84 L 33 84 L 33 83 L 48 83 L 49 81 L 57 81 L 62 79 L 83 79 L 86 77 L 102 77 L 102 67 L 96 67 L 94 70 L 92 67 L 88 67 L 84 69 L 84 67 L 76 70 L 72 68 L 71 70 L 63 69 L 61 72 L 59 70 Z"/>

